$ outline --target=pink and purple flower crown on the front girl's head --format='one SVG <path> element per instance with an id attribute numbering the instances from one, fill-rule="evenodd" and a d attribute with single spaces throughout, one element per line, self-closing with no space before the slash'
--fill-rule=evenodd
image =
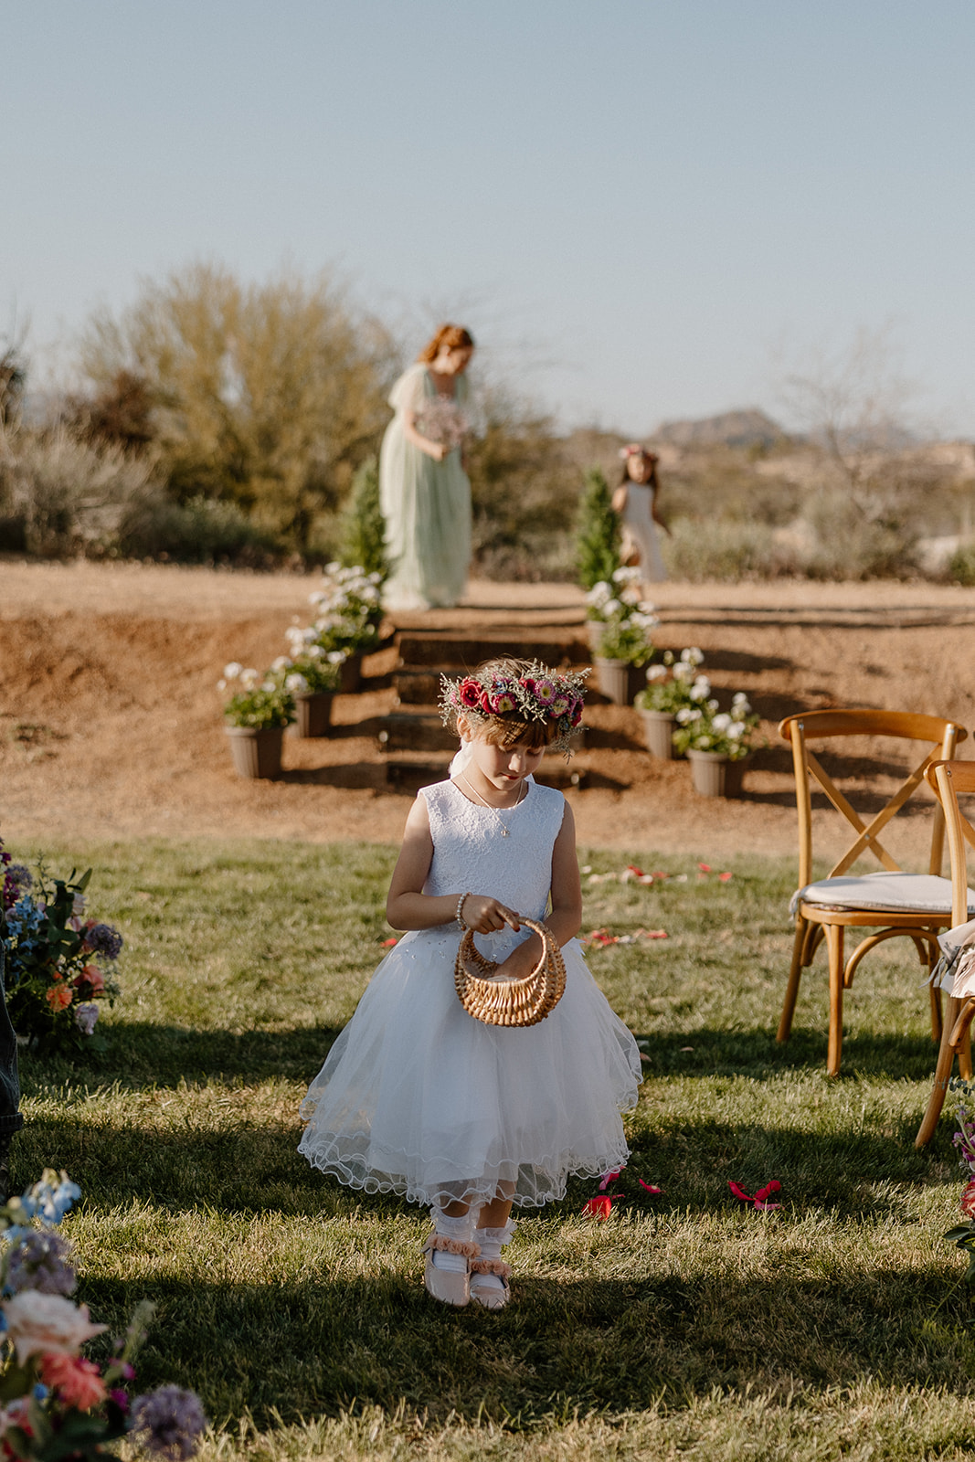
<path id="1" fill-rule="evenodd" d="M 525 674 L 475 671 L 460 680 L 440 677 L 440 713 L 444 725 L 458 715 L 474 721 L 507 716 L 512 721 L 542 721 L 555 728 L 550 750 L 567 756 L 572 732 L 582 721 L 583 681 L 589 670 L 554 671 L 532 661 Z"/>

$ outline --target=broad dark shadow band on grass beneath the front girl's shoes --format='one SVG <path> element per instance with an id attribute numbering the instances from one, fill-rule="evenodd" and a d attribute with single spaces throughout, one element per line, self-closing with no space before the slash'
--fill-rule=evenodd
<path id="1" fill-rule="evenodd" d="M 351 1240 L 354 1243 L 354 1240 Z M 512 1251 L 517 1265 L 517 1241 Z M 788 1270 L 672 1273 L 652 1250 L 629 1279 L 513 1279 L 507 1310 L 449 1310 L 421 1268 L 377 1257 L 361 1279 L 282 1284 L 86 1279 L 83 1298 L 117 1332 L 136 1301 L 158 1306 L 140 1386 L 193 1386 L 219 1424 L 249 1408 L 273 1428 L 379 1405 L 513 1430 L 573 1411 L 618 1415 L 719 1386 L 887 1385 L 969 1390 L 972 1344 L 933 1354 L 921 1319 L 946 1275 Z"/>

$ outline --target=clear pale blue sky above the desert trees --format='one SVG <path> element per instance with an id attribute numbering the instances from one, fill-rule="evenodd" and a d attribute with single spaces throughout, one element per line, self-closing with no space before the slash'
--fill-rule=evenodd
<path id="1" fill-rule="evenodd" d="M 469 323 L 558 411 L 775 412 L 893 323 L 975 434 L 972 0 L 4 0 L 0 330 L 197 257 Z"/>

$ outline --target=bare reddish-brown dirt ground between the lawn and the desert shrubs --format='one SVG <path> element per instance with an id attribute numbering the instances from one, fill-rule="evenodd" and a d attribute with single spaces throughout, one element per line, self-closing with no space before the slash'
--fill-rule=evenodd
<path id="1" fill-rule="evenodd" d="M 240 781 L 215 683 L 228 659 L 263 667 L 306 621 L 314 577 L 149 564 L 37 564 L 0 558 L 0 832 L 50 839 L 270 836 L 398 841 L 409 794 L 389 788 L 382 689 L 336 699 L 333 735 L 285 741 L 279 781 Z M 570 789 L 589 846 L 794 857 L 791 768 L 778 719 L 820 706 L 925 711 L 975 727 L 975 592 L 933 585 L 658 586 L 658 643 L 700 645 L 716 687 L 741 689 L 769 747 L 744 797 L 694 794 L 690 768 L 642 750 L 633 711 L 599 705 Z M 567 585 L 474 582 L 455 611 L 414 626 L 580 624 Z M 384 655 L 384 658 L 383 658 Z M 392 651 L 367 670 L 392 668 Z M 971 741 L 962 749 L 971 753 Z M 879 787 L 895 768 L 877 760 Z M 832 816 L 832 814 L 829 814 Z M 826 813 L 817 814 L 826 826 Z M 919 822 L 915 825 L 919 829 Z M 908 841 L 914 833 L 908 832 Z"/>

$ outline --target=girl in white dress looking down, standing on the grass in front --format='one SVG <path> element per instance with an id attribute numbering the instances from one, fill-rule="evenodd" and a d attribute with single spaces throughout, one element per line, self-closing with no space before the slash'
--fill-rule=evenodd
<path id="1" fill-rule="evenodd" d="M 572 808 L 531 775 L 547 747 L 567 749 L 580 678 L 496 659 L 444 680 L 441 705 L 460 753 L 452 778 L 417 797 L 386 902 L 409 933 L 311 1083 L 298 1151 L 351 1187 L 430 1205 L 427 1289 L 494 1310 L 510 1294 L 512 1205 L 541 1208 L 572 1174 L 626 1162 L 620 1113 L 636 1105 L 640 1058 L 574 939 Z M 566 991 L 538 1025 L 484 1025 L 455 991 L 460 930 L 485 936 L 496 978 L 520 980 L 541 940 L 519 914 L 563 947 Z"/>

